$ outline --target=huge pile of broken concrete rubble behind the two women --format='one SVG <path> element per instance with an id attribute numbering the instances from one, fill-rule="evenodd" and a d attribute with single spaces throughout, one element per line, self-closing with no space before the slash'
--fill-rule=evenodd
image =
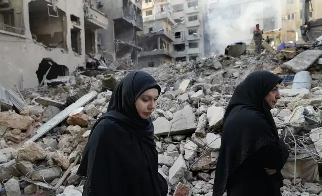
<path id="1" fill-rule="evenodd" d="M 295 57 L 291 55 L 221 55 L 142 69 L 162 87 L 152 118 L 159 173 L 168 181 L 169 195 L 212 195 L 222 119 L 234 87 L 250 72 L 271 71 Z M 120 80 L 126 73 L 118 71 L 114 76 Z M 0 182 L 8 196 L 39 195 L 44 191 L 60 196 L 81 195 L 83 178 L 76 175 L 81 152 L 93 124 L 106 113 L 111 96 L 111 91 L 101 92 L 103 78 L 104 74 L 79 74 L 75 84 L 26 89 L 21 93 L 27 108 L 20 113 L 0 112 Z M 272 110 L 278 132 L 294 157 L 304 154 L 318 159 L 318 154 L 322 155 L 322 137 L 317 129 L 321 123 L 322 87 L 311 91 L 284 87 L 277 108 Z M 68 109 L 88 95 L 66 105 L 70 96 L 81 91 L 100 93 L 76 109 Z M 318 195 L 322 186 L 286 179 L 282 192 Z"/>

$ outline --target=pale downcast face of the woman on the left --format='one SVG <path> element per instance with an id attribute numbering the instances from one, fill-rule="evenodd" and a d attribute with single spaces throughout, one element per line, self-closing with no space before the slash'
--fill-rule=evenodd
<path id="1" fill-rule="evenodd" d="M 155 88 L 146 90 L 135 102 L 137 112 L 142 119 L 148 119 L 156 107 L 159 91 Z"/>

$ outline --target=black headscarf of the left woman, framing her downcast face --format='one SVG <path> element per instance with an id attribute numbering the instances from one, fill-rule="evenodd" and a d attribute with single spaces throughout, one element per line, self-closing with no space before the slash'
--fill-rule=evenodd
<path id="1" fill-rule="evenodd" d="M 102 119 L 109 118 L 118 122 L 118 124 L 132 134 L 142 136 L 145 141 L 153 145 L 154 126 L 152 119 L 151 117 L 142 119 L 135 105 L 136 99 L 143 92 L 152 88 L 157 89 L 160 95 L 161 87 L 147 72 L 133 71 L 128 73 L 115 86 L 109 101 L 107 113 L 102 116 Z"/>

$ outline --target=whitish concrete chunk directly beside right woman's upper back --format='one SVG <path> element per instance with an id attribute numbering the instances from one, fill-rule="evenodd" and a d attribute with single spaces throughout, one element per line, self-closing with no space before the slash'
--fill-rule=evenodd
<path id="1" fill-rule="evenodd" d="M 212 105 L 207 110 L 207 118 L 210 128 L 217 128 L 222 125 L 223 116 L 226 110 L 224 107 L 216 107 Z"/>

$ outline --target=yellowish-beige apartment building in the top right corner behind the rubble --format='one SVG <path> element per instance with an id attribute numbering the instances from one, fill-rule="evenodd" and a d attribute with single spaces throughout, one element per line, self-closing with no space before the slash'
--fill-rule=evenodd
<path id="1" fill-rule="evenodd" d="M 284 41 L 302 41 L 302 0 L 282 0 L 282 28 Z M 313 8 L 313 9 L 312 9 Z M 311 0 L 309 20 L 322 18 L 321 0 Z"/>

